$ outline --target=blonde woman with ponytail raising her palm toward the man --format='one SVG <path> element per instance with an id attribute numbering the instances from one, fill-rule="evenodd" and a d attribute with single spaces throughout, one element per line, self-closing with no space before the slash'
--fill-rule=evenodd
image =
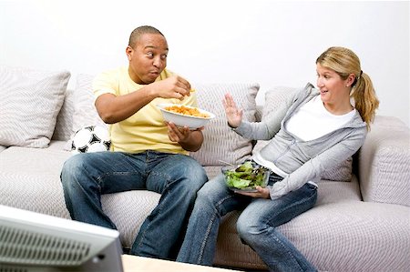
<path id="1" fill-rule="evenodd" d="M 272 139 L 251 157 L 272 170 L 269 186 L 233 193 L 222 175 L 202 186 L 178 261 L 212 265 L 220 217 L 244 209 L 238 233 L 271 271 L 316 270 L 276 227 L 314 206 L 315 181 L 364 144 L 379 104 L 369 76 L 351 50 L 329 48 L 317 58 L 316 71 L 318 89 L 307 85 L 261 123 L 242 121 L 241 110 L 231 95 L 225 95 L 228 124 L 236 133 Z"/>

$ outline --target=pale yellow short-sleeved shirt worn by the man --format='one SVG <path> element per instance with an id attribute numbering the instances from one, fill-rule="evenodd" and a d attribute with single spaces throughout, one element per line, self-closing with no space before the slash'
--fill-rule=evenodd
<path id="1" fill-rule="evenodd" d="M 156 81 L 172 75 L 171 72 L 164 69 Z M 120 67 L 97 76 L 93 82 L 93 92 L 96 98 L 108 93 L 123 96 L 138 92 L 143 86 L 132 81 L 128 75 L 128 67 Z M 198 106 L 195 93 L 186 96 L 182 101 L 174 98 L 155 98 L 133 116 L 108 126 L 112 142 L 111 150 L 128 153 L 156 150 L 167 153 L 188 154 L 178 143 L 169 140 L 168 128 L 164 124 L 162 114 L 157 107 L 161 103 Z"/>

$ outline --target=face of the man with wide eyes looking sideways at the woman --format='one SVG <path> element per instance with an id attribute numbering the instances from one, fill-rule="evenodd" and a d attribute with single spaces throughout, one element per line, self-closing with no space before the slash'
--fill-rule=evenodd
<path id="1" fill-rule="evenodd" d="M 154 82 L 167 66 L 168 44 L 163 35 L 144 34 L 126 49 L 131 79 L 142 85 Z"/>

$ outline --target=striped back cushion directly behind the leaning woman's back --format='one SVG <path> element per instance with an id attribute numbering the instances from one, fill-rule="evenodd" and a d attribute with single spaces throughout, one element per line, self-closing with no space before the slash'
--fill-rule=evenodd
<path id="1" fill-rule="evenodd" d="M 292 96 L 295 92 L 301 88 L 287 87 L 287 86 L 276 86 L 271 90 L 267 91 L 265 94 L 265 104 L 262 109 L 261 120 L 268 116 L 272 112 L 277 111 L 284 101 Z M 269 141 L 258 141 L 253 148 L 253 153 L 260 151 L 263 146 L 266 146 Z M 353 158 L 349 157 L 345 161 L 341 162 L 338 166 L 334 166 L 332 169 L 328 169 L 323 172 L 322 178 L 326 180 L 333 181 L 351 181 L 352 180 L 352 170 L 353 170 Z"/>

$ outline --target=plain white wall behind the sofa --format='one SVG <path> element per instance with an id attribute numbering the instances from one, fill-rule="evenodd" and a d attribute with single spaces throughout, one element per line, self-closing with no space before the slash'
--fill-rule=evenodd
<path id="1" fill-rule="evenodd" d="M 315 59 L 350 47 L 374 80 L 378 114 L 410 123 L 409 2 L 0 0 L 0 64 L 97 74 L 127 65 L 138 25 L 169 42 L 169 69 L 195 82 L 315 84 Z"/>

